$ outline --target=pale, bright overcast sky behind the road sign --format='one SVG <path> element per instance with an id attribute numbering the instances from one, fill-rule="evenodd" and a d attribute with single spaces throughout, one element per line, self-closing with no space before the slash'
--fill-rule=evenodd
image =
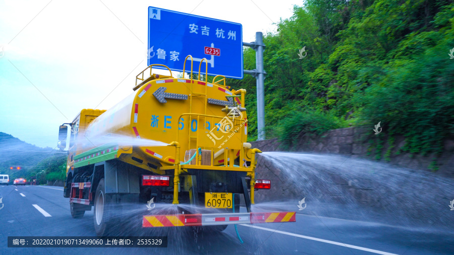
<path id="1" fill-rule="evenodd" d="M 294 5 L 303 0 L 0 0 L 0 132 L 54 148 L 80 110 L 131 94 L 147 67 L 149 6 L 241 23 L 251 42 Z"/>

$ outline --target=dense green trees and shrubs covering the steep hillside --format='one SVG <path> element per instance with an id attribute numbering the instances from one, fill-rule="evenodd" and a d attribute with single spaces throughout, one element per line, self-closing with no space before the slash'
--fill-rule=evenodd
<path id="1" fill-rule="evenodd" d="M 291 145 L 301 134 L 381 121 L 384 133 L 406 137 L 404 151 L 441 151 L 454 127 L 453 1 L 307 0 L 277 27 L 264 36 L 267 139 Z M 255 51 L 244 58 L 255 69 Z M 228 85 L 248 91 L 254 141 L 255 78 Z"/>

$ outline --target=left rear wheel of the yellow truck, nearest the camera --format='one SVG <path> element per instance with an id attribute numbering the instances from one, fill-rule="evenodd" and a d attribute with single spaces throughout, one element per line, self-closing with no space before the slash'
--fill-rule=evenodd
<path id="1" fill-rule="evenodd" d="M 106 202 L 104 178 L 99 180 L 96 188 L 94 206 L 93 206 L 93 222 L 97 236 L 108 236 L 111 233 L 113 223 L 111 208 Z"/>

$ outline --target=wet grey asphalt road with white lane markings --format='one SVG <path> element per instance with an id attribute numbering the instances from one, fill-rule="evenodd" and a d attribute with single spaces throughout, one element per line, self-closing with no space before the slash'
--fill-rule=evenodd
<path id="1" fill-rule="evenodd" d="M 168 236 L 167 248 L 8 248 L 8 236 L 96 236 L 93 211 L 73 219 L 62 190 L 0 186 L 0 254 L 454 254 L 454 231 L 301 213 L 295 223 L 238 225 L 243 244 L 231 225 L 220 233 L 196 233 L 189 227 L 128 229 L 130 236 Z"/>

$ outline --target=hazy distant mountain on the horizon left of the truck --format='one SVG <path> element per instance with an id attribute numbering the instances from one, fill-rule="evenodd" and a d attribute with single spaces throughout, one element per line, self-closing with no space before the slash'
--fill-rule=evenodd
<path id="1" fill-rule="evenodd" d="M 66 154 L 59 153 L 58 150 L 50 147 L 37 147 L 0 132 L 0 173 L 2 174 L 28 172 L 42 160 L 54 155 L 64 156 Z M 10 167 L 14 169 L 10 169 Z M 17 167 L 21 169 L 18 170 Z"/>

